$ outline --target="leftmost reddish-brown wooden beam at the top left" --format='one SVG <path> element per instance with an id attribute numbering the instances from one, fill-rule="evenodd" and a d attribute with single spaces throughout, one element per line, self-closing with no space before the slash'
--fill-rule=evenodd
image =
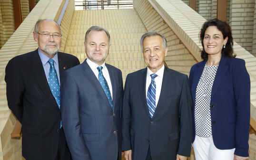
<path id="1" fill-rule="evenodd" d="M 13 15 L 14 15 L 14 26 L 16 30 L 22 23 L 20 0 L 12 0 L 12 5 L 13 5 Z"/>

